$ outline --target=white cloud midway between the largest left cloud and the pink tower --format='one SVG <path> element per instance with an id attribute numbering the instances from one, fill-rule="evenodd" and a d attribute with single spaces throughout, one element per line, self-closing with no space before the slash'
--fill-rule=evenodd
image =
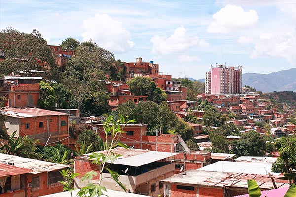
<path id="1" fill-rule="evenodd" d="M 182 52 L 198 44 L 198 37 L 190 37 L 186 29 L 181 26 L 175 29 L 174 34 L 168 38 L 155 35 L 150 40 L 153 43 L 152 53 L 169 54 Z"/>

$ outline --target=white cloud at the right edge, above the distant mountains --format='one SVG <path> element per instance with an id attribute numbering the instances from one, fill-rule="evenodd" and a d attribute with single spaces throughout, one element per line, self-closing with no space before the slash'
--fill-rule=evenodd
<path id="1" fill-rule="evenodd" d="M 262 34 L 260 39 L 256 40 L 255 48 L 251 54 L 251 58 L 261 56 L 283 57 L 292 65 L 296 61 L 296 37 L 291 32 L 282 36 L 273 36 L 272 34 Z"/>

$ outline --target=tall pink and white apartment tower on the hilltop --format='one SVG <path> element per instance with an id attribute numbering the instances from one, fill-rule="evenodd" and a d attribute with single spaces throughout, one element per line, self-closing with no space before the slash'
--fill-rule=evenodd
<path id="1" fill-rule="evenodd" d="M 236 94 L 241 92 L 242 66 L 218 65 L 206 72 L 206 94 Z"/>

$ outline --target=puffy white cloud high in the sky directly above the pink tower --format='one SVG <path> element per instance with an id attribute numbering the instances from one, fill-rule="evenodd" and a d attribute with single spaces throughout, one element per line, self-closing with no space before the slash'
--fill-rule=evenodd
<path id="1" fill-rule="evenodd" d="M 226 5 L 213 16 L 214 21 L 207 31 L 210 33 L 228 33 L 237 29 L 254 26 L 258 21 L 255 10 L 244 11 L 240 6 Z"/>

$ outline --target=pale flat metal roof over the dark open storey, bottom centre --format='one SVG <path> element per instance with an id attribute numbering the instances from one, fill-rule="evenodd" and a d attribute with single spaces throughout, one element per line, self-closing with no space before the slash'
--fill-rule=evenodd
<path id="1" fill-rule="evenodd" d="M 105 153 L 106 151 L 98 151 L 96 153 Z M 149 150 L 142 150 L 142 149 L 125 149 L 122 147 L 117 147 L 113 149 L 114 153 L 120 154 L 121 156 L 118 157 L 112 164 L 119 164 L 119 165 L 128 165 L 139 167 L 145 164 L 149 164 L 152 162 L 156 162 L 174 155 L 178 155 L 179 153 L 170 153 L 170 152 L 160 152 L 160 151 L 149 151 Z M 92 153 L 85 154 L 78 158 L 89 158 L 89 155 Z"/>

